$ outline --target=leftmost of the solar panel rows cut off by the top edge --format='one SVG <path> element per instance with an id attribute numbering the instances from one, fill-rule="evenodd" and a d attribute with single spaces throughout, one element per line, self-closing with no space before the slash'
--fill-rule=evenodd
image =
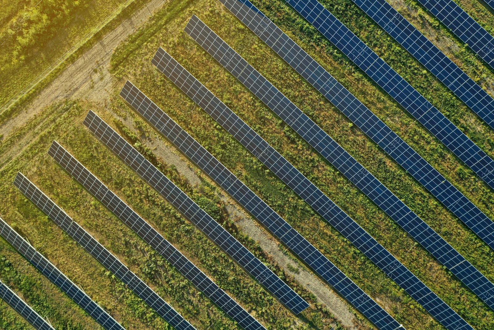
<path id="1" fill-rule="evenodd" d="M 269 47 L 492 248 L 493 222 L 247 0 L 220 0 Z M 482 296 L 483 300 L 492 299 Z"/>

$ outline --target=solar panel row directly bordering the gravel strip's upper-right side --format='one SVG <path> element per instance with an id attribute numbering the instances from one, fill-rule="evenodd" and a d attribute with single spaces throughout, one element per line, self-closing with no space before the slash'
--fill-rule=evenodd
<path id="1" fill-rule="evenodd" d="M 377 305 L 362 289 L 347 278 L 321 252 L 294 230 L 259 196 L 248 189 L 132 83 L 127 81 L 120 95 L 379 329 L 394 330 L 400 327 L 400 324 L 382 307 Z"/>

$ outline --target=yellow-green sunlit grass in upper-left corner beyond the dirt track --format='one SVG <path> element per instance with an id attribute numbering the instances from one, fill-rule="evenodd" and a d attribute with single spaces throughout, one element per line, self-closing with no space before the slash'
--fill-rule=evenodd
<path id="1" fill-rule="evenodd" d="M 124 0 L 1 0 L 0 104 L 77 44 Z"/>

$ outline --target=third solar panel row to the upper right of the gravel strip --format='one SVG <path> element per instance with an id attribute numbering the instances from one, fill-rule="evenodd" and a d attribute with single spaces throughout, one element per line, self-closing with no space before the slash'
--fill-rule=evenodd
<path id="1" fill-rule="evenodd" d="M 412 212 L 404 202 L 381 184 L 372 174 L 332 140 L 316 123 L 302 113 L 295 104 L 277 90 L 266 78 L 247 63 L 235 50 L 218 37 L 197 16 L 192 16 L 185 27 L 187 32 L 211 56 L 226 68 L 236 68 L 231 73 L 252 93 L 268 105 L 300 136 L 318 150 L 341 173 L 361 189 L 386 214 L 395 220 L 414 239 L 436 257 L 476 294 L 492 297 L 486 303 L 494 308 L 494 284 L 483 276 L 446 240 L 439 236 L 422 219 Z M 494 223 L 490 222 L 492 230 Z M 489 236 L 493 240 L 494 233 Z M 459 264 L 462 267 L 457 267 Z"/>

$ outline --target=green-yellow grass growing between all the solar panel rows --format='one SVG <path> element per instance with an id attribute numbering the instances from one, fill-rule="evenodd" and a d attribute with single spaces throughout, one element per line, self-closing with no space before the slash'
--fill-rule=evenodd
<path id="1" fill-rule="evenodd" d="M 417 124 L 392 98 L 377 88 L 370 78 L 282 1 L 253 2 L 494 219 L 492 189 L 478 180 L 472 171 Z M 494 132 L 445 86 L 424 71 L 403 48 L 386 36 L 365 13 L 350 0 L 323 3 L 412 86 L 438 106 L 453 123 L 494 157 Z M 415 2 L 401 5 L 409 12 L 419 10 Z M 14 5 L 12 8 L 9 9 L 12 12 L 18 10 Z M 239 142 L 217 126 L 202 109 L 195 106 L 150 64 L 157 48 L 164 47 L 475 329 L 494 328 L 494 312 L 486 304 L 417 245 L 368 197 L 183 32 L 192 14 L 204 20 L 334 140 L 359 162 L 365 164 L 374 176 L 403 199 L 467 260 L 494 281 L 493 251 L 382 149 L 348 122 L 341 112 L 243 26 L 219 1 L 214 0 L 166 2 L 149 24 L 115 50 L 111 70 L 114 77 L 112 103 L 107 108 L 95 107 L 82 100 L 54 104 L 2 141 L 0 152 L 17 143 L 27 132 L 39 133 L 39 138 L 34 143 L 25 148 L 18 157 L 4 164 L 0 170 L 0 195 L 4 199 L 0 205 L 2 218 L 22 233 L 21 235 L 27 236 L 35 247 L 58 264 L 69 278 L 81 284 L 93 299 L 127 329 L 166 329 L 163 320 L 22 196 L 12 185 L 16 172 L 21 171 L 198 329 L 236 328 L 222 311 L 213 306 L 191 283 L 184 280 L 163 258 L 55 164 L 46 154 L 46 150 L 51 141 L 57 140 L 216 283 L 236 297 L 247 311 L 269 326 L 269 329 L 331 329 L 333 325 L 341 327 L 335 323 L 327 309 L 318 304 L 315 297 L 303 287 L 304 283 L 295 282 L 256 242 L 248 239 L 242 232 L 237 232 L 232 225 L 233 219 L 226 218 L 224 205 L 218 199 L 219 188 L 203 175 L 202 185 L 191 187 L 176 169 L 156 158 L 152 150 L 140 147 L 141 142 L 161 138 L 118 96 L 125 79 L 129 79 L 407 329 L 444 329 L 363 253 L 326 224 L 303 200 L 267 171 L 267 168 Z M 424 33 L 433 31 L 450 40 L 456 47 L 461 46 L 453 36 L 447 34 L 444 27 L 435 24 L 433 19 L 431 23 L 430 17 L 420 17 L 415 17 L 414 23 L 423 29 Z M 482 17 L 484 23 L 488 24 L 492 14 L 487 12 Z M 3 21 L 2 18 L 1 22 Z M 491 93 L 491 84 L 494 81 L 492 71 L 476 59 L 468 48 L 458 49 L 460 50 L 449 55 L 454 57 L 460 66 L 468 68 L 466 71 L 472 78 L 480 81 Z M 83 128 L 81 122 L 89 108 L 118 129 L 128 141 L 141 148 L 141 151 L 145 151 L 150 159 L 194 200 L 204 207 L 209 207 L 209 212 L 215 215 L 217 221 L 224 224 L 249 250 L 268 263 L 297 292 L 309 300 L 309 310 L 299 316 L 291 315 L 206 236 L 194 231 L 188 221 L 177 214 L 154 190 Z M 127 124 L 115 121 L 114 117 L 122 118 Z M 137 135 L 130 133 L 132 130 L 127 128 L 129 122 L 139 130 Z M 48 316 L 52 324 L 60 325 L 57 329 L 84 329 L 86 325 L 89 325 L 88 329 L 98 329 L 99 326 L 94 321 L 84 315 L 56 287 L 43 279 L 34 267 L 19 257 L 3 240 L 0 241 L 0 248 L 0 277 L 17 292 L 21 292 L 31 304 L 39 306 L 37 310 L 43 316 Z M 33 286 L 36 290 L 30 289 Z M 2 305 L 0 325 L 1 322 L 7 324 L 6 329 L 23 327 L 24 323 L 19 317 L 11 310 L 1 307 Z M 359 328 L 372 328 L 360 314 L 357 313 L 357 317 L 360 320 Z M 14 325 L 15 323 L 20 325 Z"/>

